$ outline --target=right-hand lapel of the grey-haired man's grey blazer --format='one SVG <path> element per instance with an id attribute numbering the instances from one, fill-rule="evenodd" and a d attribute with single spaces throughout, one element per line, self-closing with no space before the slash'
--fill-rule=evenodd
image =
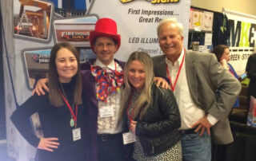
<path id="1" fill-rule="evenodd" d="M 194 103 L 198 104 L 198 82 L 193 54 L 186 51 L 186 80 Z"/>

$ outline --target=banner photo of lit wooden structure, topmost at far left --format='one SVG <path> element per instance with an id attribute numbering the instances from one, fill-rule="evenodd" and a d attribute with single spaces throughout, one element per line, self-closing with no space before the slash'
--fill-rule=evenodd
<path id="1" fill-rule="evenodd" d="M 53 4 L 40 0 L 13 0 L 14 36 L 48 41 Z"/>

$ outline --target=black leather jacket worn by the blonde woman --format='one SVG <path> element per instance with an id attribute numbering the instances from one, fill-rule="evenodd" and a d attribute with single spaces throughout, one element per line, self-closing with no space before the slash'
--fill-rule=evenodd
<path id="1" fill-rule="evenodd" d="M 137 121 L 136 135 L 146 156 L 159 155 L 180 140 L 178 128 L 181 126 L 181 117 L 174 93 L 153 84 L 151 95 L 151 104 L 142 119 L 138 116 L 134 119 Z"/>

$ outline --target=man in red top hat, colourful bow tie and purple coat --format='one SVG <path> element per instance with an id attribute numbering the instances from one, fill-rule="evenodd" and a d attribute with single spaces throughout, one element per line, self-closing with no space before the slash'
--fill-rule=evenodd
<path id="1" fill-rule="evenodd" d="M 114 59 L 114 54 L 120 45 L 116 22 L 111 18 L 98 19 L 90 32 L 90 48 L 97 58 L 81 65 L 86 126 L 90 129 L 86 137 L 90 146 L 87 156 L 92 161 L 122 161 L 128 157 L 122 139 L 123 123 L 118 121 L 125 62 Z M 164 79 L 156 81 L 168 88 Z M 42 87 L 47 90 L 45 82 L 38 81 L 34 91 L 43 94 Z"/>

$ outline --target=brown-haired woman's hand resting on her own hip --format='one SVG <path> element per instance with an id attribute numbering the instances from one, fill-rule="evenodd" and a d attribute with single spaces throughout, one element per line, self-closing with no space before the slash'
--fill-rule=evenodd
<path id="1" fill-rule="evenodd" d="M 54 151 L 53 149 L 57 149 L 59 143 L 56 142 L 58 138 L 41 138 L 38 143 L 38 148 L 45 151 Z"/>

